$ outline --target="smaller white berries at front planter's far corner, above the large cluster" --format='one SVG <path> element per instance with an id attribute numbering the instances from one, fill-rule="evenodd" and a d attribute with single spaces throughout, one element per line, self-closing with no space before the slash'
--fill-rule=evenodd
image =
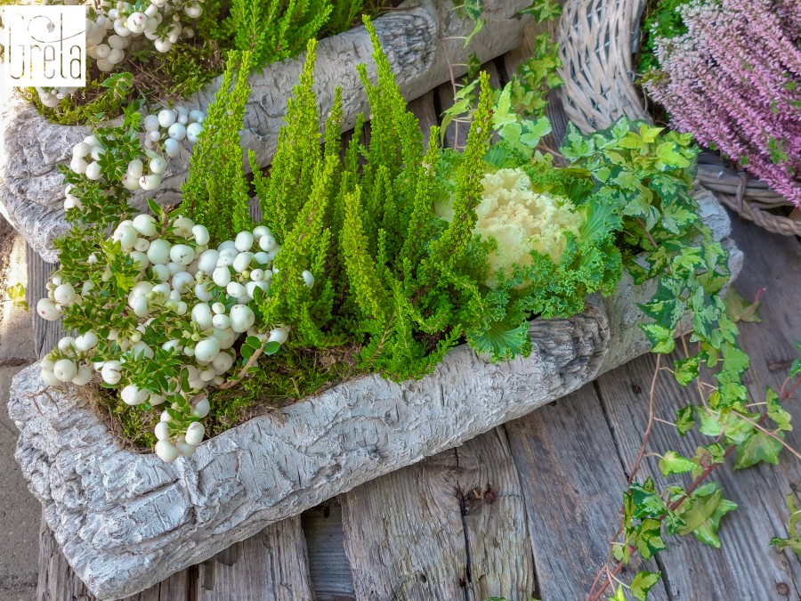
<path id="1" fill-rule="evenodd" d="M 157 114 L 143 118 L 145 133 L 142 154 L 148 161 L 145 164 L 141 158 L 134 158 L 128 163 L 121 181 L 125 189 L 156 190 L 166 172 L 167 159 L 178 156 L 182 143 L 198 142 L 205 117 L 201 110 L 188 110 L 179 106 L 174 109 L 162 109 Z M 100 180 L 102 177 L 100 159 L 107 150 L 96 136 L 89 135 L 83 142 L 78 142 L 73 147 L 69 168 L 90 180 Z M 66 193 L 64 209 L 80 208 L 81 201 L 72 194 L 71 186 L 67 186 Z"/>

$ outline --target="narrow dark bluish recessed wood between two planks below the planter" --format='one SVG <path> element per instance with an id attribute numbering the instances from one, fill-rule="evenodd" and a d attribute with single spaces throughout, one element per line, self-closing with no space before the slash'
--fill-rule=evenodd
<path id="1" fill-rule="evenodd" d="M 342 508 L 336 499 L 301 514 L 309 573 L 317 601 L 354 599 L 351 564 L 344 553 Z"/>

